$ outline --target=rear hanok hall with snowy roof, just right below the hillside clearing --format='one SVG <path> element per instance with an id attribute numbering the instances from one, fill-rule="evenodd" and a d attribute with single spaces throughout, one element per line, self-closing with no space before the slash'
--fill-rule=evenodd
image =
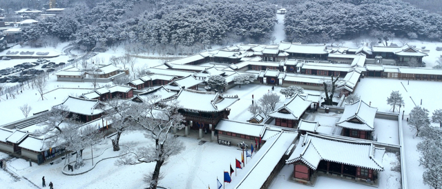
<path id="1" fill-rule="evenodd" d="M 290 48 L 285 50 L 289 58 L 300 59 L 321 59 L 327 60 L 327 49 L 324 45 L 296 44 L 292 43 Z"/>

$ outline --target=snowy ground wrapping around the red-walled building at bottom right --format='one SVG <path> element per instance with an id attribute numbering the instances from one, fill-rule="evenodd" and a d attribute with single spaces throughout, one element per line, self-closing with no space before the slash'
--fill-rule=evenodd
<path id="1" fill-rule="evenodd" d="M 379 173 L 379 186 L 383 189 L 398 189 L 401 187 L 401 173 L 392 171 L 391 168 L 399 163 L 395 154 L 386 152 L 383 158 L 383 165 L 385 170 Z M 296 189 L 311 189 L 311 186 L 305 186 L 294 181 L 289 181 L 293 175 L 293 164 L 285 165 L 281 172 L 273 179 L 269 186 L 270 189 L 279 188 L 296 188 Z M 313 188 L 353 188 L 365 189 L 373 188 L 373 186 L 365 186 L 361 183 L 353 183 L 350 181 L 340 180 L 333 177 L 319 176 Z M 412 188 L 412 187 L 410 187 Z"/>

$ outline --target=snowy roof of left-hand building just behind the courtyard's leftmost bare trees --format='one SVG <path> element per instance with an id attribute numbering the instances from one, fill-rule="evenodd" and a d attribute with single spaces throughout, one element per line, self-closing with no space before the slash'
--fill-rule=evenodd
<path id="1" fill-rule="evenodd" d="M 93 99 L 81 99 L 78 97 L 69 96 L 63 103 L 53 106 L 52 108 L 57 108 L 58 106 L 64 105 L 68 108 L 69 112 L 73 112 L 79 115 L 99 115 L 103 110 L 95 109 L 99 104 L 99 100 Z"/>

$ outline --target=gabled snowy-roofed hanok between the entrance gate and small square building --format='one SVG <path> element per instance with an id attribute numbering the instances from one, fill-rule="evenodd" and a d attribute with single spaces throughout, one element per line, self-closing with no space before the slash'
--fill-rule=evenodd
<path id="1" fill-rule="evenodd" d="M 312 101 L 307 101 L 299 94 L 285 99 L 282 106 L 276 108 L 275 111 L 269 113 L 269 117 L 273 117 L 276 126 L 296 128 L 298 121 L 305 114 L 307 108 L 311 107 Z"/>

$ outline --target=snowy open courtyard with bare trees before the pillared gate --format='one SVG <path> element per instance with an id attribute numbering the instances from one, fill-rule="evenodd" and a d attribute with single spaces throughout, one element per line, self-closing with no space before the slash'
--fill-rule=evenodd
<path id="1" fill-rule="evenodd" d="M 138 146 L 148 143 L 140 133 L 130 133 L 122 136 L 121 145 L 133 139 L 138 140 Z M 223 170 L 229 170 L 230 163 L 235 163 L 235 159 L 240 159 L 240 150 L 235 147 L 220 146 L 216 143 L 204 143 L 198 145 L 197 139 L 180 137 L 186 149 L 171 157 L 163 167 L 164 179 L 160 181 L 160 186 L 166 188 L 215 188 L 216 177 L 222 181 Z M 111 142 L 94 148 L 94 156 L 104 147 L 111 147 Z M 119 155 L 112 149 L 105 150 L 103 155 L 96 157 L 94 162 L 102 157 L 112 157 Z M 84 150 L 84 158 L 90 157 L 90 148 Z M 16 162 L 17 161 L 17 162 Z M 71 158 L 73 161 L 73 158 Z M 16 166 L 17 173 L 27 177 L 30 181 L 40 186 L 41 177 L 45 176 L 46 184 L 49 181 L 55 184 L 55 188 L 144 188 L 142 177 L 153 170 L 154 163 L 142 163 L 136 166 L 115 166 L 115 159 L 106 159 L 97 164 L 95 169 L 84 175 L 66 176 L 61 174 L 64 161 L 50 165 L 48 163 L 41 166 L 29 167 L 29 163 L 23 159 L 12 161 L 11 166 Z M 26 164 L 27 163 L 27 164 Z M 87 163 L 86 166 L 90 165 Z M 241 171 L 241 170 L 238 170 Z M 3 172 L 0 170 L 0 178 L 3 179 Z M 6 183 L 13 183 L 8 177 L 4 177 Z M 233 179 L 238 179 L 233 177 Z M 20 181 L 21 182 L 21 181 Z M 3 183 L 3 182 L 2 182 Z M 24 185 L 26 186 L 26 185 Z M 11 185 L 12 188 L 12 185 Z M 23 187 L 26 188 L 26 187 Z"/>

